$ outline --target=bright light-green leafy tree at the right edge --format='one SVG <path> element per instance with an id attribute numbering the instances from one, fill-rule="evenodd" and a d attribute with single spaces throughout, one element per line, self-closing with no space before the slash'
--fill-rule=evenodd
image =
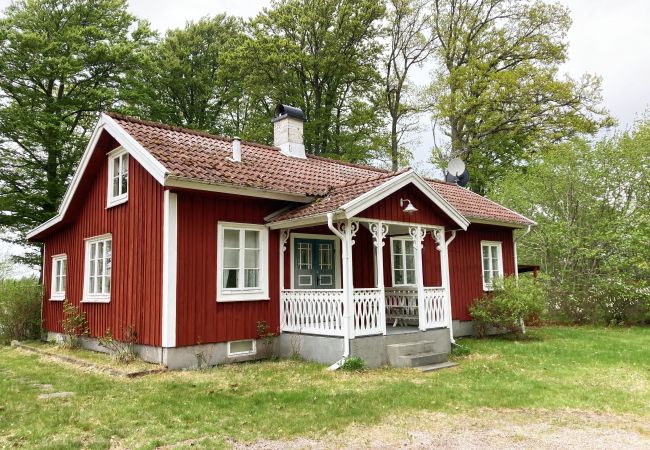
<path id="1" fill-rule="evenodd" d="M 593 144 L 574 139 L 493 191 L 538 223 L 520 261 L 541 263 L 552 310 L 571 320 L 639 321 L 643 302 L 650 320 L 649 147 L 650 122 Z"/>

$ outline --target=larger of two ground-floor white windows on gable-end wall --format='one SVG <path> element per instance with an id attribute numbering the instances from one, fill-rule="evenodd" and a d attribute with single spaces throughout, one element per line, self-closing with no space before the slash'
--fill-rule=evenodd
<path id="1" fill-rule="evenodd" d="M 110 235 L 86 240 L 84 302 L 110 301 L 112 247 Z"/>

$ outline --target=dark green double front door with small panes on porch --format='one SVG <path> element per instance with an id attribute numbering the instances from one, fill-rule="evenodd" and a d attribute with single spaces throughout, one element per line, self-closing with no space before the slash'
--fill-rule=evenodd
<path id="1" fill-rule="evenodd" d="M 336 287 L 334 241 L 296 238 L 293 245 L 294 288 L 334 289 Z"/>

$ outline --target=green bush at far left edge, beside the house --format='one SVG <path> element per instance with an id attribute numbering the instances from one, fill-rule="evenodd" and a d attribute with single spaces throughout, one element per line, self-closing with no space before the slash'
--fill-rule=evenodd
<path id="1" fill-rule="evenodd" d="M 42 292 L 34 278 L 0 280 L 0 344 L 40 337 Z"/>

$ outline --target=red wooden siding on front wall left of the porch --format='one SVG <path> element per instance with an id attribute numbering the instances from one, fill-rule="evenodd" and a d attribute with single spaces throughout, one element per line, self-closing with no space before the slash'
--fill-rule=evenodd
<path id="1" fill-rule="evenodd" d="M 176 345 L 257 337 L 257 321 L 279 331 L 279 232 L 269 231 L 270 301 L 217 302 L 217 224 L 263 224 L 282 202 L 178 192 Z"/>

